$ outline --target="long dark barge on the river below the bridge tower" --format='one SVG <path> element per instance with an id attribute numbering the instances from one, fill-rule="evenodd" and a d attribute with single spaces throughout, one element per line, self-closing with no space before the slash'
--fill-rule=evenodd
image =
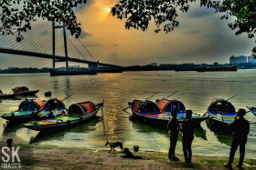
<path id="1" fill-rule="evenodd" d="M 54 75 L 97 75 L 97 70 L 66 70 L 66 69 L 49 69 L 51 76 Z"/>

